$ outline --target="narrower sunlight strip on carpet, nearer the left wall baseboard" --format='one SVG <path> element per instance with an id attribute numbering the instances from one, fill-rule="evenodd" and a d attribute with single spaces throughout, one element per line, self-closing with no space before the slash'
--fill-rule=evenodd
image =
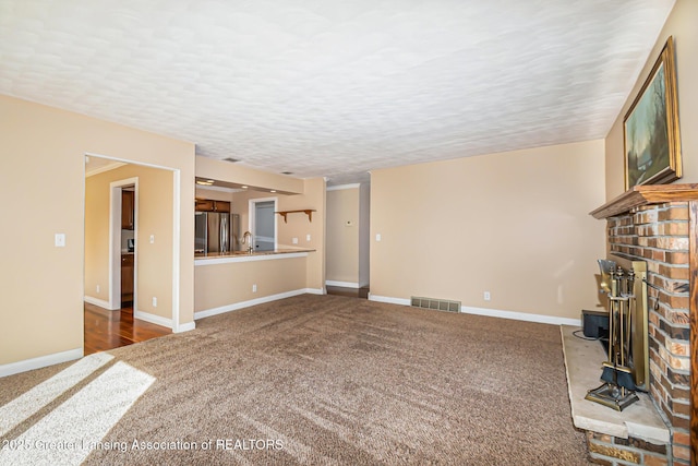
<path id="1" fill-rule="evenodd" d="M 34 416 L 44 406 L 112 359 L 113 356 L 106 353 L 89 355 L 0 407 L 0 435 L 4 435 Z"/>

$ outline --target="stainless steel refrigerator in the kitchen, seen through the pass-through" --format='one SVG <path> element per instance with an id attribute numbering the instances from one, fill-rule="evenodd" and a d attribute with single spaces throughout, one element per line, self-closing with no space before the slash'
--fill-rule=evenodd
<path id="1" fill-rule="evenodd" d="M 225 254 L 239 250 L 240 215 L 219 212 L 195 213 L 194 253 Z"/>

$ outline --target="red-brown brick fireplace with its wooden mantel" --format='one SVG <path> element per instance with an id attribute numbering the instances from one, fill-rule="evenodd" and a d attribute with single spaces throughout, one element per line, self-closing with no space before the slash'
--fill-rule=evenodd
<path id="1" fill-rule="evenodd" d="M 691 342 L 696 347 L 698 184 L 635 187 L 591 215 L 606 220 L 610 254 L 647 262 L 650 396 L 670 430 L 669 464 L 691 464 L 698 432 L 691 430 L 696 422 Z M 592 450 L 597 439 L 593 433 L 588 439 Z"/>

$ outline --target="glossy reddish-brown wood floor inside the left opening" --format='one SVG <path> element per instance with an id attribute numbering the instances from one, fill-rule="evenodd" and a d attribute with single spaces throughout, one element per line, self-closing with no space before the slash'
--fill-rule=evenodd
<path id="1" fill-rule="evenodd" d="M 85 356 L 172 333 L 161 325 L 133 319 L 133 308 L 109 311 L 85 302 L 84 315 Z"/>

